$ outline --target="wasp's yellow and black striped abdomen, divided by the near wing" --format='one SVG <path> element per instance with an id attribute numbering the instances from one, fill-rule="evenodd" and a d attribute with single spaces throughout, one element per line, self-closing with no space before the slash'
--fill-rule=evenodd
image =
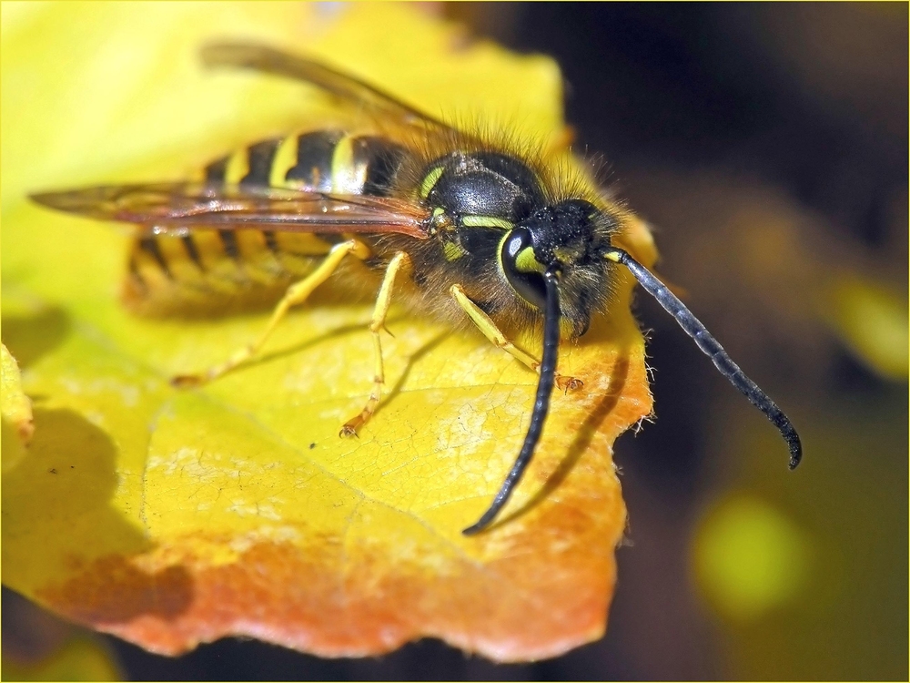
<path id="1" fill-rule="evenodd" d="M 208 183 L 388 196 L 407 150 L 336 129 L 263 140 L 205 168 Z M 312 270 L 338 234 L 191 229 L 140 230 L 129 254 L 126 304 L 147 315 L 225 314 L 278 300 Z"/>

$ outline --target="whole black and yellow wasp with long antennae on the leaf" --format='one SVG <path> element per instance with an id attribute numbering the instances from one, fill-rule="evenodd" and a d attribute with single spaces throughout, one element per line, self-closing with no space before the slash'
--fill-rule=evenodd
<path id="1" fill-rule="evenodd" d="M 471 321 L 539 374 L 521 451 L 487 511 L 464 529 L 473 535 L 493 522 L 531 462 L 554 385 L 581 385 L 556 373 L 561 337 L 578 339 L 592 316 L 607 311 L 616 269 L 623 267 L 780 430 L 790 468 L 799 464 L 799 436 L 781 409 L 682 301 L 616 246 L 631 219 L 620 204 L 567 180 L 541 161 L 542 153 L 520 153 L 447 124 L 317 61 L 250 44 L 207 46 L 203 61 L 303 81 L 371 123 L 262 140 L 209 164 L 197 181 L 32 197 L 53 209 L 136 226 L 125 298 L 138 311 L 172 301 L 175 291 L 206 300 L 227 270 L 240 265 L 249 275 L 248 293 L 274 295 L 280 287 L 257 340 L 175 384 L 210 382 L 257 357 L 288 310 L 320 285 L 362 285 L 350 281 L 346 267 L 359 261 L 378 287 L 369 323 L 375 372 L 367 403 L 341 435 L 356 434 L 379 404 L 379 332 L 396 286 L 413 311 L 453 325 Z M 237 291 L 221 289 L 229 297 Z M 504 331 L 516 328 L 542 330 L 540 359 Z"/>

